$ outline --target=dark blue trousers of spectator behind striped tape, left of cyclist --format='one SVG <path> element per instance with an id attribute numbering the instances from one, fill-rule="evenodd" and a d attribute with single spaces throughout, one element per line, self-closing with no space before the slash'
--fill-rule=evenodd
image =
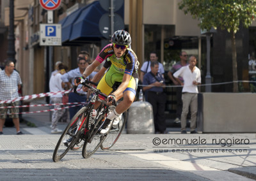
<path id="1" fill-rule="evenodd" d="M 86 95 L 80 96 L 74 92 L 70 92 L 68 95 L 68 103 L 81 103 L 86 102 Z M 74 117 L 74 115 L 82 108 L 82 106 L 75 106 L 69 108 L 70 120 Z"/>

